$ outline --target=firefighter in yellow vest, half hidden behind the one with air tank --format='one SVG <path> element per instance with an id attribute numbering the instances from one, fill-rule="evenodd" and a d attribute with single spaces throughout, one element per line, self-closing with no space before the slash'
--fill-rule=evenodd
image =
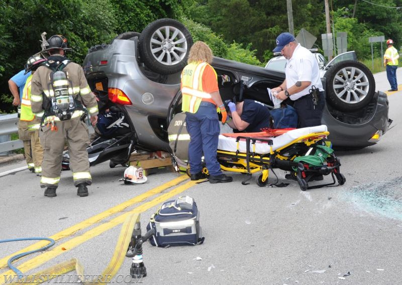
<path id="1" fill-rule="evenodd" d="M 23 96 L 21 100 L 21 115 L 19 123 L 19 131 L 21 129 L 28 130 L 27 140 L 29 144 L 29 151 L 33 160 L 34 172 L 36 175 L 42 174 L 42 160 L 43 160 L 43 148 L 39 142 L 39 125 L 40 120 L 32 113 L 31 109 L 31 80 L 35 70 L 46 60 L 39 56 L 33 55 L 28 58 L 27 64 L 25 64 L 25 74 L 31 72 L 25 82 Z M 24 146 L 25 146 L 24 141 Z"/>

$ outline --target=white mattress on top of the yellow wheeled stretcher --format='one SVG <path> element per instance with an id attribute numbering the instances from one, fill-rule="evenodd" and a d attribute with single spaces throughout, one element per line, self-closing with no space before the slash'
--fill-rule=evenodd
<path id="1" fill-rule="evenodd" d="M 326 125 L 321 125 L 321 126 L 315 126 L 315 127 L 307 127 L 307 128 L 300 128 L 300 129 L 294 129 L 291 131 L 288 131 L 284 133 L 283 135 L 277 136 L 277 137 L 272 137 L 272 138 L 264 138 L 264 139 L 271 139 L 273 142 L 272 145 L 272 150 L 276 150 L 278 148 L 281 148 L 292 141 L 312 134 L 312 133 L 322 133 L 327 131 L 327 126 Z M 242 134 L 239 133 L 239 136 Z M 256 138 L 257 141 L 255 143 L 255 152 L 264 154 L 264 153 L 269 153 L 270 152 L 270 146 L 268 145 L 267 142 L 261 142 L 258 141 L 258 138 Z M 223 135 L 219 135 L 219 142 L 218 142 L 218 149 L 220 150 L 225 150 L 225 151 L 231 151 L 235 152 L 238 150 L 238 143 L 236 142 L 236 138 L 232 137 L 225 137 Z M 245 140 L 240 140 L 239 141 L 239 151 L 241 153 L 246 153 L 246 141 Z M 253 151 L 253 145 L 250 142 L 250 151 Z"/>

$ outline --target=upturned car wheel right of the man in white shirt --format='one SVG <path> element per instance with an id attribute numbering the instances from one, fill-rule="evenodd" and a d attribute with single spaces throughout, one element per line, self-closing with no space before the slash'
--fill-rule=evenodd
<path id="1" fill-rule="evenodd" d="M 325 77 L 327 102 L 339 111 L 359 110 L 374 96 L 374 76 L 360 62 L 339 62 L 327 70 Z"/>

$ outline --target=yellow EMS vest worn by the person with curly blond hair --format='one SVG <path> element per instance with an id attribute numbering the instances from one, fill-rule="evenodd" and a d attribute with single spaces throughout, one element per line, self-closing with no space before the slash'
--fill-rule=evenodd
<path id="1" fill-rule="evenodd" d="M 181 111 L 196 113 L 203 99 L 211 99 L 211 94 L 203 90 L 203 73 L 207 62 L 193 62 L 186 65 L 181 72 Z M 218 75 L 215 72 L 215 76 Z"/>

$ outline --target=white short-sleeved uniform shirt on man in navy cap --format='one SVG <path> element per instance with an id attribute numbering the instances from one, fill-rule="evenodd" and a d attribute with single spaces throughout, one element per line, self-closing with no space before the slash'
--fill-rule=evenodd
<path id="1" fill-rule="evenodd" d="M 296 100 L 309 94 L 309 90 L 313 85 L 320 91 L 324 91 L 317 59 L 311 51 L 300 44 L 297 44 L 292 57 L 286 61 L 285 74 L 286 88 L 293 86 L 297 81 L 311 81 L 311 84 L 306 89 L 291 94 L 291 100 Z"/>

